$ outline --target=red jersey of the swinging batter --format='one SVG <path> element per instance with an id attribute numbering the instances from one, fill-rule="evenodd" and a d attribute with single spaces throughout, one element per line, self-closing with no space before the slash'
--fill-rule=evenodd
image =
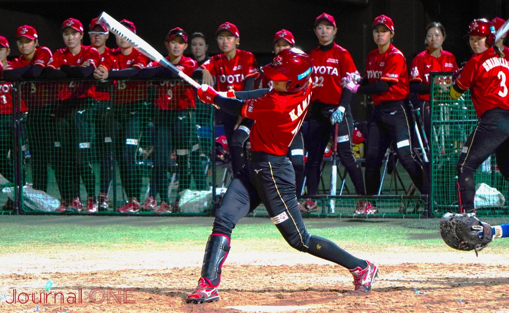
<path id="1" fill-rule="evenodd" d="M 286 155 L 304 121 L 311 101 L 311 80 L 295 93 L 271 89 L 263 97 L 244 102 L 242 117 L 254 120 L 249 134 L 251 151 Z"/>

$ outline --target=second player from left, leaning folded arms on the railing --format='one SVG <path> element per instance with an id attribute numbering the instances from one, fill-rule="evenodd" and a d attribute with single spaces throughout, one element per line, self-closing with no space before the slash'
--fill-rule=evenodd
<path id="1" fill-rule="evenodd" d="M 19 26 L 16 30 L 16 44 L 21 55 L 11 61 L 5 77 L 16 80 L 21 77 L 34 79 L 41 75 L 44 67 L 51 59 L 51 51 L 47 47 L 39 46 L 39 36 L 30 25 Z M 51 147 L 51 104 L 55 103 L 53 83 L 30 82 L 21 84 L 21 96 L 30 114 L 26 116 L 26 132 L 30 145 L 32 163 L 32 182 L 34 189 L 47 192 L 48 165 L 50 163 Z"/>

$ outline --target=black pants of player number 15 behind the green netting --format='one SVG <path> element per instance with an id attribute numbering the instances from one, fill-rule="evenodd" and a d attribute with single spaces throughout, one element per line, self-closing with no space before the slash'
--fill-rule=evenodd
<path id="1" fill-rule="evenodd" d="M 112 104 L 109 112 L 111 118 L 105 138 L 111 138 L 112 154 L 119 166 L 120 179 L 128 199 L 139 198 L 142 189 L 142 176 L 136 160 L 142 137 L 143 115 L 148 113 L 147 108 L 148 104 L 143 101 Z M 108 172 L 115 174 L 115 171 Z M 107 179 L 109 184 L 111 177 Z"/>

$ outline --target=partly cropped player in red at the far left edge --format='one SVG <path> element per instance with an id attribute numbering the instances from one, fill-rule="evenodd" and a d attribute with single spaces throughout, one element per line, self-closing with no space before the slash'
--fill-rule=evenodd
<path id="1" fill-rule="evenodd" d="M 0 36 L 0 74 L 4 69 L 11 66 L 7 56 L 11 52 L 9 42 L 3 36 Z M 6 71 L 7 72 L 7 71 Z M 2 77 L 2 75 L 0 75 Z M 27 108 L 21 100 L 21 112 L 26 112 Z M 9 151 L 13 148 L 14 138 L 12 129 L 12 83 L 0 80 L 0 174 L 7 180 L 14 183 L 14 158 L 9 157 Z M 3 209 L 12 209 L 12 203 L 8 202 Z"/>

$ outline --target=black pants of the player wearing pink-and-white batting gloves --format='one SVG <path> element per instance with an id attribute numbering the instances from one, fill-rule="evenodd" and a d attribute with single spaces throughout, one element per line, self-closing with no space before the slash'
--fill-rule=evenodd
<path id="1" fill-rule="evenodd" d="M 412 133 L 410 133 L 412 131 Z M 366 194 L 376 195 L 380 186 L 380 169 L 387 148 L 394 143 L 398 160 L 407 170 L 422 194 L 423 174 L 412 149 L 413 119 L 407 112 L 406 100 L 384 102 L 374 107 L 366 139 Z"/>

